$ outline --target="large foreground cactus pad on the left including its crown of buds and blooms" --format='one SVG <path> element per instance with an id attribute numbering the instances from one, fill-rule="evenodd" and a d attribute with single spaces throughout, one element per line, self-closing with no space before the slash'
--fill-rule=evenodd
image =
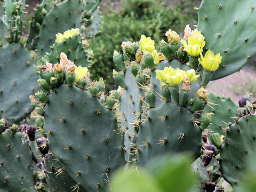
<path id="1" fill-rule="evenodd" d="M 47 97 L 43 92 L 36 94 L 41 101 L 38 107 L 44 106 L 43 113 L 38 112 L 42 115 L 37 117 L 36 124 L 48 133 L 44 145 L 61 166 L 56 174 L 61 177 L 62 171 L 66 171 L 75 181 L 73 189 L 105 191 L 109 174 L 125 164 L 123 134 L 113 111 L 103 106 L 97 97 L 100 85 L 85 81 L 87 68 L 80 66 L 85 73 L 76 71 L 75 74 L 74 70 L 81 68 L 76 68 L 74 62 L 61 60 L 59 63 L 48 68 L 45 79 L 38 81 L 49 94 Z M 75 80 L 79 74 L 81 78 Z M 92 95 L 84 89 L 86 85 L 90 86 Z"/>

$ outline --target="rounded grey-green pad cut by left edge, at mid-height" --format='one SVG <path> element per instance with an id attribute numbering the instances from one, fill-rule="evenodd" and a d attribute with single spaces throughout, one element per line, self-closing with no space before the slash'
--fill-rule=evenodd
<path id="1" fill-rule="evenodd" d="M 28 98 L 38 88 L 34 61 L 25 47 L 12 43 L 0 47 L 0 66 L 0 116 L 17 123 L 31 111 Z"/>

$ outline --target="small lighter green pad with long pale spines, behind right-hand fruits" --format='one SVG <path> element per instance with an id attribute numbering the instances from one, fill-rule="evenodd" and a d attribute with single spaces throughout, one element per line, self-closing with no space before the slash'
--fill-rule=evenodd
<path id="1" fill-rule="evenodd" d="M 235 123 L 238 106 L 228 97 L 220 97 L 214 93 L 208 95 L 207 105 L 205 105 L 203 114 L 213 113 L 211 124 L 207 127 L 212 132 L 220 135 L 226 135 L 225 127 L 228 123 Z"/>

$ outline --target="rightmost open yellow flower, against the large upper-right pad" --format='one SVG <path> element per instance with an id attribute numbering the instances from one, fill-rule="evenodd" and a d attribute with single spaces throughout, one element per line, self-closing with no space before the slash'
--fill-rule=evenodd
<path id="1" fill-rule="evenodd" d="M 220 53 L 214 55 L 213 51 L 208 50 L 204 57 L 201 54 L 201 58 L 198 59 L 199 63 L 203 66 L 206 71 L 215 71 L 220 67 L 221 59 Z"/>

